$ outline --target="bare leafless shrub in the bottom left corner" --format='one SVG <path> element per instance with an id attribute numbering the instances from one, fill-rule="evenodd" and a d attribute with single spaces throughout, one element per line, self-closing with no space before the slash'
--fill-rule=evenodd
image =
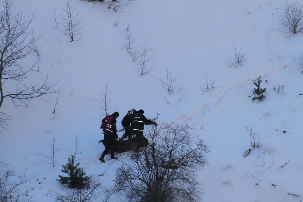
<path id="1" fill-rule="evenodd" d="M 30 202 L 22 188 L 29 182 L 25 175 L 18 174 L 7 164 L 0 162 L 0 201 L 1 202 Z"/>

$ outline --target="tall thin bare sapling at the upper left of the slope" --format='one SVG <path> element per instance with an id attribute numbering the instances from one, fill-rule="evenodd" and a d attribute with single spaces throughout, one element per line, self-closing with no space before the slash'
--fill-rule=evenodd
<path id="1" fill-rule="evenodd" d="M 82 32 L 80 31 L 83 28 L 83 19 L 78 19 L 78 15 L 81 11 L 75 12 L 75 5 L 71 5 L 71 1 L 69 0 L 66 3 L 63 3 L 65 5 L 64 12 L 65 16 L 61 16 L 63 20 L 65 20 L 65 23 L 63 24 L 66 32 L 69 33 L 70 36 L 70 41 L 74 41 L 75 36 L 81 34 Z M 81 35 L 82 36 L 82 35 Z M 78 39 L 75 39 L 78 41 L 81 36 Z"/>

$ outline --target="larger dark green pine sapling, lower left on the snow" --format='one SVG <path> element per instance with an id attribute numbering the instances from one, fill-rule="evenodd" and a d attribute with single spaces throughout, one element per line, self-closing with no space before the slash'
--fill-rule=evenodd
<path id="1" fill-rule="evenodd" d="M 68 173 L 69 177 L 64 177 L 59 175 L 60 179 L 58 180 L 61 184 L 68 184 L 69 188 L 84 189 L 89 184 L 89 177 L 85 176 L 83 168 L 78 168 L 80 163 L 74 165 L 74 156 L 68 158 L 68 163 L 62 165 L 63 173 Z"/>

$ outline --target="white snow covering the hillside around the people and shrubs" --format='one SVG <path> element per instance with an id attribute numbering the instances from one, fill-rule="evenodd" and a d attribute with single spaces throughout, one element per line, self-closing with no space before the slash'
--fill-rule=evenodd
<path id="1" fill-rule="evenodd" d="M 128 110 L 144 109 L 146 117 L 159 113 L 160 122 L 188 122 L 194 135 L 211 147 L 209 165 L 197 173 L 203 201 L 301 201 L 287 193 L 303 195 L 303 35 L 278 31 L 278 12 L 284 2 L 137 0 L 115 13 L 99 3 L 73 0 L 85 25 L 81 39 L 69 42 L 60 17 L 64 15 L 62 1 L 15 0 L 13 11 L 35 12 L 32 26 L 42 33 L 41 71 L 30 82 L 40 83 L 48 74 L 49 82 L 58 82 L 58 89 L 62 84 L 58 101 L 62 107 L 52 119 L 55 94 L 48 102 L 33 99 L 31 108 L 15 109 L 6 99 L 1 109 L 14 119 L 8 122 L 12 127 L 0 134 L 0 160 L 30 179 L 24 191 L 29 191 L 33 201 L 56 201 L 45 194 L 61 187 L 56 179 L 77 134 L 83 151 L 77 156 L 80 167 L 87 175 L 104 174 L 99 177 L 103 185 L 111 185 L 120 162 L 109 160 L 109 155 L 106 163 L 98 160 L 104 150 L 98 141 L 103 138 L 99 126 L 105 116 L 98 100 L 108 82 L 113 98 L 110 113 L 120 113 L 118 129 Z M 58 29 L 54 29 L 54 10 Z M 147 43 L 155 55 L 148 64 L 153 69 L 143 76 L 122 49 L 128 25 L 137 47 Z M 224 62 L 233 57 L 233 39 L 249 56 L 239 68 Z M 31 64 L 33 59 L 22 64 Z M 215 79 L 215 89 L 209 92 L 200 90 L 206 84 L 206 69 L 209 79 Z M 184 87 L 182 92 L 170 95 L 156 79 L 165 78 L 167 70 L 173 76 L 181 74 L 176 84 Z M 252 102 L 252 80 L 259 76 L 268 79 L 261 83 L 267 97 Z M 277 85 L 285 85 L 283 94 L 273 90 Z M 186 97 L 178 102 L 182 93 Z M 244 126 L 258 133 L 261 143 L 246 158 L 244 151 L 251 146 Z M 52 138 L 63 146 L 54 168 L 44 163 L 47 159 L 41 154 L 50 152 L 45 144 Z"/>

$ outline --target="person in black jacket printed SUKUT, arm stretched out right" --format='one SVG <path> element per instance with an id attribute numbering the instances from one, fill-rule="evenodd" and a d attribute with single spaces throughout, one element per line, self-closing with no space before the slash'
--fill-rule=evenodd
<path id="1" fill-rule="evenodd" d="M 144 111 L 143 109 L 140 109 L 137 111 L 136 116 L 133 118 L 133 122 L 131 125 L 131 129 L 133 130 L 133 133 L 137 137 L 143 136 L 143 129 L 144 129 L 144 124 L 153 124 L 158 126 L 158 124 L 150 119 L 146 119 L 146 117 L 143 115 Z"/>

